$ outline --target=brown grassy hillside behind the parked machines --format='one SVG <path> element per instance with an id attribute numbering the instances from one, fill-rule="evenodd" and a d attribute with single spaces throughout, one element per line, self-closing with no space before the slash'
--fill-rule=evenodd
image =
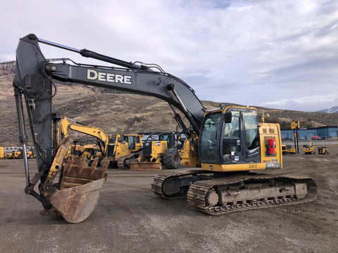
<path id="1" fill-rule="evenodd" d="M 0 64 L 0 145 L 13 146 L 18 143 L 18 120 L 12 81 L 14 64 Z M 54 108 L 61 116 L 75 119 L 84 124 L 97 126 L 107 134 L 127 134 L 151 131 L 175 131 L 176 122 L 173 112 L 163 100 L 130 93 L 114 93 L 104 89 L 82 84 L 57 84 L 57 93 L 53 99 Z M 202 101 L 208 109 L 218 107 L 219 103 Z M 225 105 L 224 101 L 222 102 Z M 265 122 L 277 122 L 289 127 L 295 119 L 301 127 L 337 125 L 337 113 L 300 112 L 258 108 Z M 27 128 L 27 131 L 29 129 Z"/>

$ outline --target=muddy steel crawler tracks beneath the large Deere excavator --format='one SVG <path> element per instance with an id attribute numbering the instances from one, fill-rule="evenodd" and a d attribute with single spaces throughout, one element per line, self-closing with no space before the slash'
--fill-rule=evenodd
<path id="1" fill-rule="evenodd" d="M 309 177 L 202 169 L 159 174 L 151 187 L 165 199 L 187 197 L 189 205 L 210 215 L 311 202 L 317 196 L 317 184 Z"/>

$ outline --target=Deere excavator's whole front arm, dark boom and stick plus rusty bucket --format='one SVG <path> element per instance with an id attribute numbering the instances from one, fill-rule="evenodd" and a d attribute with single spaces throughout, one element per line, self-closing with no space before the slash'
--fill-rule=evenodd
<path id="1" fill-rule="evenodd" d="M 75 51 L 84 57 L 104 60 L 107 63 L 118 65 L 118 67 L 70 65 L 66 63 L 67 60 L 65 59 L 46 60 L 39 48 L 39 43 Z M 78 50 L 38 39 L 35 34 L 28 34 L 20 39 L 16 56 L 17 66 L 13 86 L 18 113 L 20 143 L 23 145 L 23 150 L 26 150 L 27 132 L 25 130 L 23 110 L 24 97 L 38 167 L 38 173 L 31 179 L 27 155 L 24 154 L 26 174 L 25 193 L 34 196 L 42 202 L 44 209 L 57 209 L 69 222 L 80 222 L 90 214 L 90 212 L 89 214 L 82 212 L 83 207 L 87 206 L 84 205 L 85 199 L 87 199 L 87 202 L 92 202 L 92 205 L 89 206 L 93 207 L 96 205 L 101 188 L 106 181 L 106 174 L 104 173 L 106 166 L 104 165 L 101 169 L 97 169 L 93 166 L 97 162 L 94 162 L 89 167 L 84 160 L 75 161 L 77 159 L 63 162 L 65 150 L 68 148 L 65 145 L 71 145 L 71 142 L 69 138 L 65 143 L 58 142 L 57 125 L 61 117 L 58 113 L 54 112 L 51 102 L 56 92 L 53 79 L 61 82 L 89 84 L 161 98 L 170 104 L 170 107 L 175 112 L 175 119 L 181 123 L 182 129 L 185 130 L 187 136 L 189 136 L 190 131 L 184 125 L 175 108 L 180 110 L 189 119 L 194 131 L 197 134 L 199 133 L 204 117 L 204 107 L 194 94 L 194 90 L 181 79 L 163 72 L 158 66 L 156 68 L 159 71 L 156 72 L 151 70 L 150 67 L 127 63 L 123 60 L 103 56 L 87 49 Z M 54 150 L 52 150 L 53 147 Z M 70 164 L 69 161 L 72 161 L 72 163 Z M 103 163 L 101 162 L 101 164 Z M 74 169 L 75 167 L 77 169 Z M 56 174 L 61 174 L 61 181 L 59 183 L 54 183 Z M 71 178 L 77 184 L 72 185 L 71 183 L 67 183 Z M 82 180 L 82 178 L 85 180 Z M 63 179 L 67 180 L 64 182 L 62 181 Z M 39 188 L 40 192 L 37 193 L 34 188 L 39 181 L 41 186 Z M 99 181 L 99 183 L 90 183 L 94 181 Z M 86 188 L 85 186 L 88 183 L 95 187 Z M 90 189 L 91 192 L 96 192 L 96 194 L 86 193 L 86 195 L 82 195 L 82 188 Z M 76 193 L 79 197 L 70 196 L 68 193 Z M 88 197 L 89 195 L 94 197 Z M 56 196 L 58 196 L 57 201 L 55 201 Z M 74 204 L 73 200 L 80 202 L 77 205 Z M 67 214 L 72 215 L 65 214 L 64 208 L 67 209 Z M 87 207 L 84 209 L 88 210 Z M 89 209 L 92 210 L 93 208 Z"/>

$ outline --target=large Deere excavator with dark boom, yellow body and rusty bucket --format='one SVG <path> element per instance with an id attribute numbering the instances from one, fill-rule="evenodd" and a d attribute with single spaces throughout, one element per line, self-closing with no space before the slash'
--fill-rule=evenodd
<path id="1" fill-rule="evenodd" d="M 39 43 L 113 66 L 83 65 L 68 58 L 46 59 Z M 42 202 L 44 209 L 55 210 L 66 221 L 83 221 L 93 211 L 106 181 L 107 164 L 101 162 L 100 168 L 95 164 L 89 167 L 63 160 L 73 137 L 70 134 L 61 143 L 53 138 L 58 121 L 51 103 L 56 93 L 54 80 L 155 96 L 168 102 L 199 156 L 201 169 L 159 174 L 151 184 L 156 195 L 166 199 L 187 196 L 190 205 L 213 215 L 309 202 L 317 195 L 317 185 L 311 178 L 250 172 L 282 168 L 280 126 L 258 123 L 255 108 L 220 105 L 220 108 L 206 110 L 190 86 L 158 65 L 128 63 L 87 49 L 39 39 L 35 34 L 20 39 L 16 56 L 13 86 L 20 142 L 25 152 L 24 96 L 38 167 L 38 173 L 30 179 L 24 159 L 25 192 Z M 190 126 L 184 124 L 177 110 Z M 52 147 L 58 147 L 56 152 L 52 153 Z M 60 181 L 54 183 L 57 174 Z M 38 182 L 39 193 L 34 189 Z"/>

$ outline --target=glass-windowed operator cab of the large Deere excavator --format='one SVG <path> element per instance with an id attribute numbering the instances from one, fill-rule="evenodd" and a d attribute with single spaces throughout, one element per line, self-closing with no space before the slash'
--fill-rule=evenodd
<path id="1" fill-rule="evenodd" d="M 255 108 L 229 106 L 207 112 L 202 126 L 199 150 L 202 168 L 225 171 L 231 169 L 233 164 L 261 163 L 262 150 Z M 279 140 L 280 136 L 276 137 Z M 265 147 L 263 153 L 267 153 Z M 279 153 L 275 162 L 280 167 Z"/>

